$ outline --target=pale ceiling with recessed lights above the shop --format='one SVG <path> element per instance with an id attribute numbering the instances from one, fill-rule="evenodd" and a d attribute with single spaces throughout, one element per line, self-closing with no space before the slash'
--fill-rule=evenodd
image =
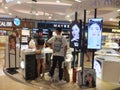
<path id="1" fill-rule="evenodd" d="M 10 2 L 6 2 L 10 1 Z M 17 4 L 20 1 L 21 4 Z M 115 2 L 114 2 L 115 1 Z M 87 18 L 94 17 L 94 9 L 97 8 L 97 17 L 103 17 L 104 21 L 110 18 L 114 21 L 118 16 L 120 0 L 0 0 L 0 15 L 39 20 L 74 20 L 75 11 L 78 19 L 83 19 L 84 10 L 87 10 Z M 7 7 L 7 8 L 6 8 Z M 68 16 L 69 15 L 69 16 Z M 51 16 L 51 18 L 49 18 Z"/>

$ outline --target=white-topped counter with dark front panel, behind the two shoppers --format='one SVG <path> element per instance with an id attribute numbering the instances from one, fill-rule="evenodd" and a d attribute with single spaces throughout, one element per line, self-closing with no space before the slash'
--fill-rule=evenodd
<path id="1" fill-rule="evenodd" d="M 46 54 L 46 71 L 50 69 L 51 55 L 53 51 L 50 48 L 45 48 Z M 33 49 L 23 50 L 21 53 L 21 68 L 23 68 L 23 77 L 26 80 L 33 80 L 37 77 L 36 57 Z M 71 68 L 72 54 L 68 53 L 65 64 L 67 68 Z"/>

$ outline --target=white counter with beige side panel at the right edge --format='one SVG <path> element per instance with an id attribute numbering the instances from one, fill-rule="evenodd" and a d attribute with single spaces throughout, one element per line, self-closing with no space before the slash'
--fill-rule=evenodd
<path id="1" fill-rule="evenodd" d="M 107 53 L 97 52 L 95 56 L 94 68 L 96 76 L 103 81 L 120 83 L 120 54 L 115 50 L 105 50 Z"/>

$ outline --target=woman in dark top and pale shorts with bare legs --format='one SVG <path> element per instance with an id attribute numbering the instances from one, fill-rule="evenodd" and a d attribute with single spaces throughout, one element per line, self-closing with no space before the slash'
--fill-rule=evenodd
<path id="1" fill-rule="evenodd" d="M 35 53 L 36 53 L 36 59 L 37 59 L 37 81 L 40 81 L 41 78 L 44 79 L 44 72 L 45 72 L 44 42 L 45 41 L 42 38 L 42 35 L 36 39 Z M 40 76 L 41 72 L 42 72 L 42 76 Z"/>

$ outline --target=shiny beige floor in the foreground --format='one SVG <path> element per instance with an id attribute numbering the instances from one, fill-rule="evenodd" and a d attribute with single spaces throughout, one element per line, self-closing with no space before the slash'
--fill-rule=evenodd
<path id="1" fill-rule="evenodd" d="M 120 90 L 119 84 L 103 82 L 100 79 L 96 80 L 96 88 L 83 89 L 72 82 L 58 85 L 57 83 L 50 83 L 48 79 L 41 80 L 40 82 L 36 82 L 35 80 L 25 81 L 22 77 L 21 70 L 18 70 L 19 74 L 14 74 L 13 76 L 9 74 L 6 75 L 3 72 L 4 54 L 2 52 L 3 51 L 0 50 L 0 90 Z M 88 64 L 88 62 L 85 63 L 85 65 Z"/>

